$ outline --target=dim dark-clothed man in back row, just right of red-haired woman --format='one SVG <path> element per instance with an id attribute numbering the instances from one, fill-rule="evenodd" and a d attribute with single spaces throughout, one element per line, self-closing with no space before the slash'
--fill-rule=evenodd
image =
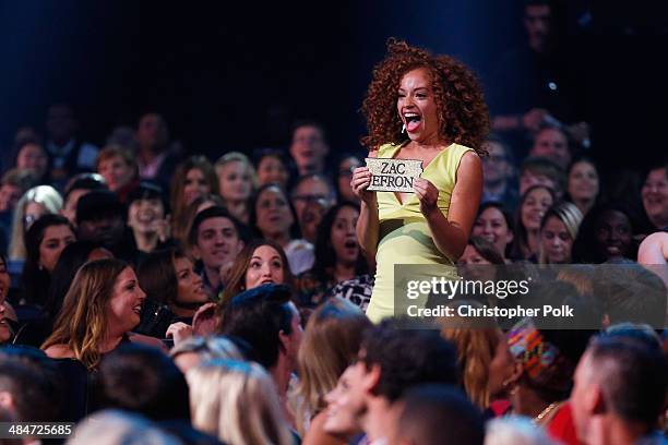
<path id="1" fill-rule="evenodd" d="M 163 190 L 169 190 L 178 159 L 169 153 L 169 130 L 165 119 L 153 112 L 142 116 L 135 140 L 140 178 L 155 180 Z"/>

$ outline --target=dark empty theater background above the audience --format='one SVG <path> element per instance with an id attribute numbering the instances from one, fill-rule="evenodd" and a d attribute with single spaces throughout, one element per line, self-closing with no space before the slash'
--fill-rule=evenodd
<path id="1" fill-rule="evenodd" d="M 563 41 L 604 168 L 663 147 L 668 68 L 660 2 L 561 3 Z M 324 122 L 359 149 L 357 112 L 390 36 L 470 64 L 487 89 L 498 56 L 525 38 L 523 2 L 2 1 L 0 144 L 73 104 L 84 136 L 164 113 L 191 153 L 285 146 L 290 122 Z"/>

